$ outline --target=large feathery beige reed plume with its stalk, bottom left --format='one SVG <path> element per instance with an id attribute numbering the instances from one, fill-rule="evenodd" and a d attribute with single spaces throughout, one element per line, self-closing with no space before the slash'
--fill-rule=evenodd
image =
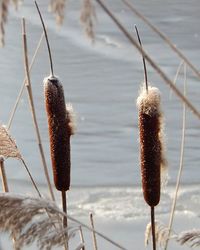
<path id="1" fill-rule="evenodd" d="M 17 246 L 28 246 L 33 242 L 38 249 L 64 246 L 66 241 L 63 235 L 68 234 L 70 240 L 81 226 L 94 231 L 118 249 L 127 250 L 104 234 L 66 215 L 51 200 L 0 193 L 0 207 L 0 230 L 10 233 L 11 236 L 15 235 Z M 62 227 L 63 216 L 67 216 L 72 223 L 68 228 Z M 56 230 L 55 225 L 59 227 Z M 83 247 L 84 243 L 80 243 L 76 249 Z"/>

